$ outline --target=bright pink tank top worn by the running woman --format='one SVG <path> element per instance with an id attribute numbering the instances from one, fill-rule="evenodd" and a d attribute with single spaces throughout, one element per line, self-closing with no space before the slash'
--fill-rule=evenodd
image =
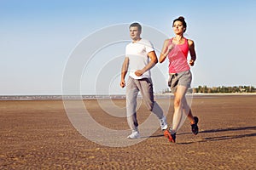
<path id="1" fill-rule="evenodd" d="M 172 39 L 169 41 L 169 45 L 173 44 Z M 169 59 L 169 73 L 178 73 L 182 71 L 189 71 L 190 67 L 188 64 L 188 54 L 189 54 L 189 43 L 188 40 L 185 39 L 183 44 L 173 44 L 174 48 L 168 54 Z"/>

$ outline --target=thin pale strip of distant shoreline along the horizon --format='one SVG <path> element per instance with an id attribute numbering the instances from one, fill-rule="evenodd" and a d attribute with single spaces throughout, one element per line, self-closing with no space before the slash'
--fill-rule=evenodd
<path id="1" fill-rule="evenodd" d="M 256 95 L 256 93 L 230 93 L 230 94 L 187 94 L 187 96 L 231 96 L 231 95 Z M 139 95 L 140 97 L 140 95 Z M 154 94 L 155 99 L 172 98 L 173 94 Z M 125 94 L 110 95 L 1 95 L 0 101 L 5 100 L 65 100 L 65 99 L 125 99 Z"/>

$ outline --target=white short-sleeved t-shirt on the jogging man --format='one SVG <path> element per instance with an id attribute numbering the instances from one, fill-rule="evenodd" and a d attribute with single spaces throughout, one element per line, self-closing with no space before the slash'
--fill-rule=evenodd
<path id="1" fill-rule="evenodd" d="M 134 79 L 150 78 L 150 70 L 143 73 L 141 77 L 135 75 L 135 71 L 142 70 L 149 63 L 148 53 L 154 51 L 151 42 L 141 39 L 138 42 L 130 42 L 125 48 L 125 57 L 129 58 L 129 76 Z"/>

